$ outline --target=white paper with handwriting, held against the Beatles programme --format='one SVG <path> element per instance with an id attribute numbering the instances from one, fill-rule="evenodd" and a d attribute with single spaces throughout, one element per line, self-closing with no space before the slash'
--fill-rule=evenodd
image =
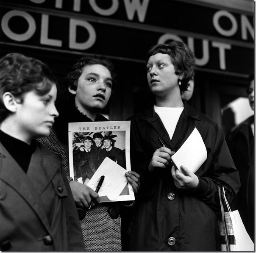
<path id="1" fill-rule="evenodd" d="M 119 164 L 112 161 L 109 157 L 106 157 L 90 179 L 87 186 L 95 190 L 100 177 L 105 176 L 98 194 L 99 196 L 107 196 L 109 200 L 114 201 L 120 195 L 127 183 L 125 177 L 126 172 L 127 171 Z"/>

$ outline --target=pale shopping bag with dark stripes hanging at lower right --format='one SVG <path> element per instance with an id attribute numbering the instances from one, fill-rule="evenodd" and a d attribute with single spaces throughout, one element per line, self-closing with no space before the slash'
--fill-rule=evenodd
<path id="1" fill-rule="evenodd" d="M 225 189 L 218 186 L 220 196 L 220 206 L 222 211 L 222 220 L 219 221 L 221 250 L 222 251 L 255 251 L 254 243 L 250 239 L 245 226 L 240 217 L 239 211 L 231 211 L 228 201 L 225 196 Z M 224 212 L 222 199 L 228 208 Z"/>

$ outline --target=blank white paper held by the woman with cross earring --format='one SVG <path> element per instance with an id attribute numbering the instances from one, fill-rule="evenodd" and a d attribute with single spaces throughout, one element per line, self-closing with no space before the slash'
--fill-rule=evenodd
<path id="1" fill-rule="evenodd" d="M 202 136 L 195 128 L 180 149 L 172 156 L 173 163 L 180 170 L 181 165 L 195 173 L 207 158 Z"/>

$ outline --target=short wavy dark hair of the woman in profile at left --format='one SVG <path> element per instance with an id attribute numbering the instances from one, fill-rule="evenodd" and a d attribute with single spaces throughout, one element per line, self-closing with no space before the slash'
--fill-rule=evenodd
<path id="1" fill-rule="evenodd" d="M 26 92 L 34 90 L 45 95 L 54 84 L 57 84 L 56 78 L 42 61 L 20 53 L 3 56 L 0 59 L 0 122 L 11 114 L 3 103 L 5 92 L 10 92 L 22 103 Z"/>

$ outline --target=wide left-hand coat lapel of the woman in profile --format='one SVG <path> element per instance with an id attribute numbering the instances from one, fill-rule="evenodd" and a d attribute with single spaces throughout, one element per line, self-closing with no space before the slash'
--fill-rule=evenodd
<path id="1" fill-rule="evenodd" d="M 39 166 L 40 167 L 40 166 Z M 30 168 L 29 168 L 30 169 Z M 17 193 L 35 211 L 45 228 L 50 233 L 50 224 L 45 213 L 40 195 L 30 178 L 0 143 L 0 178 L 15 189 Z"/>

